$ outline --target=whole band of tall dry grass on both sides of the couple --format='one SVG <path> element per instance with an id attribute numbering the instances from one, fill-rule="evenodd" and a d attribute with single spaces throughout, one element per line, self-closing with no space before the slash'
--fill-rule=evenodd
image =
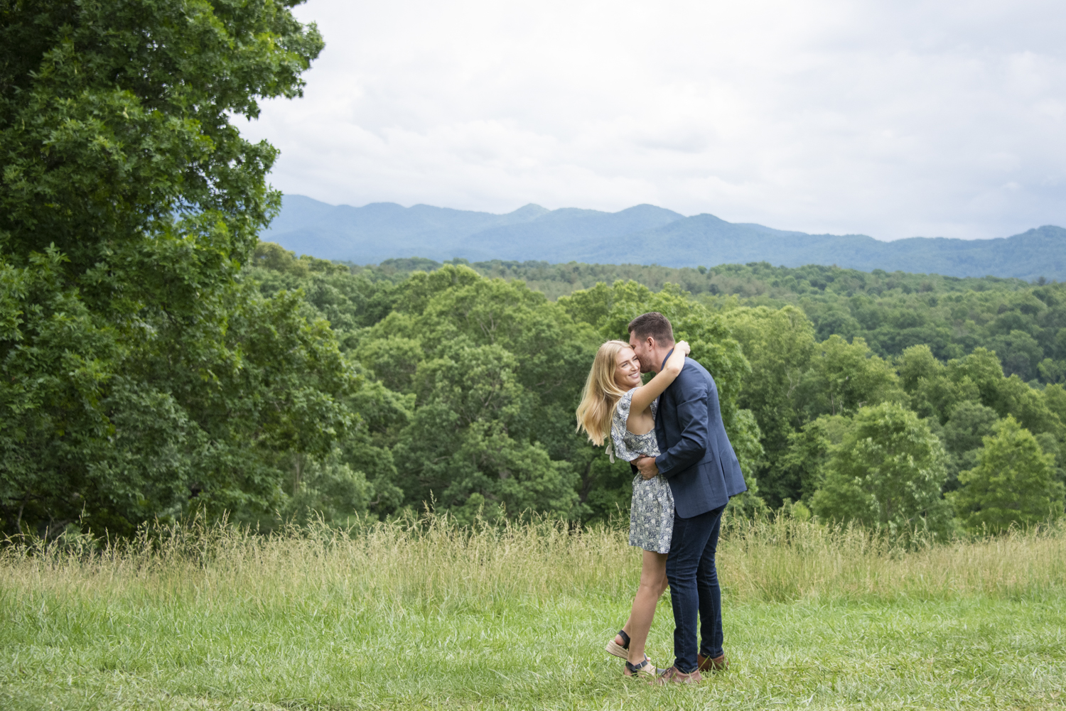
<path id="1" fill-rule="evenodd" d="M 0 583 L 16 597 L 161 603 L 238 596 L 271 605 L 341 596 L 372 609 L 484 609 L 571 594 L 626 597 L 639 565 L 625 532 L 550 519 L 462 528 L 430 515 L 269 535 L 194 521 L 146 527 L 132 540 L 103 546 L 87 538 L 7 545 Z M 904 545 L 861 528 L 734 518 L 723 527 L 718 567 L 737 600 L 1044 596 L 1066 587 L 1066 527 Z"/>

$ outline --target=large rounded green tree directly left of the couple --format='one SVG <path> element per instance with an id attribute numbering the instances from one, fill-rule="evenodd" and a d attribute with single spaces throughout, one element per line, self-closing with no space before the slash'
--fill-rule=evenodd
<path id="1" fill-rule="evenodd" d="M 404 503 L 461 517 L 482 504 L 593 513 L 597 452 L 572 422 L 596 345 L 587 324 L 521 282 L 462 265 L 411 275 L 356 349 L 417 403 L 392 450 Z"/>

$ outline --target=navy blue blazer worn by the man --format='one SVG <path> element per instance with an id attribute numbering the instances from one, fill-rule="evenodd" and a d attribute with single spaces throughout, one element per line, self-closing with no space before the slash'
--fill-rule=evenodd
<path id="1" fill-rule="evenodd" d="M 662 452 L 656 466 L 669 482 L 679 517 L 713 511 L 747 490 L 722 424 L 714 378 L 692 358 L 659 395 L 656 439 Z"/>

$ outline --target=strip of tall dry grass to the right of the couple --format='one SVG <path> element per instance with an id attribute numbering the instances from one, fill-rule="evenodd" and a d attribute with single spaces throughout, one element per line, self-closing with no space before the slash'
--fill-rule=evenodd
<path id="1" fill-rule="evenodd" d="M 761 600 L 1057 595 L 1066 589 L 1066 527 L 937 542 L 785 517 L 736 518 L 718 566 L 727 588 Z"/>

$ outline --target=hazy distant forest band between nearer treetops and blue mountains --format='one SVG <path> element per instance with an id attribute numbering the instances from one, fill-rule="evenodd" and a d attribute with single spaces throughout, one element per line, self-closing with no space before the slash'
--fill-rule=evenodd
<path id="1" fill-rule="evenodd" d="M 353 270 L 372 281 L 395 281 L 411 271 L 440 265 L 429 259 L 390 259 L 370 266 L 353 265 Z M 503 261 L 468 265 L 485 276 L 521 279 L 551 298 L 598 281 L 632 279 L 652 291 L 677 285 L 713 310 L 776 309 L 791 304 L 811 320 L 819 340 L 835 334 L 847 339 L 859 336 L 882 357 L 925 343 L 942 360 L 981 345 L 999 354 L 1007 375 L 1027 383 L 1066 382 L 1066 332 L 1062 330 L 1066 327 L 1066 285 L 992 276 L 866 273 L 818 264 L 775 268 L 765 262 L 713 269 Z"/>

